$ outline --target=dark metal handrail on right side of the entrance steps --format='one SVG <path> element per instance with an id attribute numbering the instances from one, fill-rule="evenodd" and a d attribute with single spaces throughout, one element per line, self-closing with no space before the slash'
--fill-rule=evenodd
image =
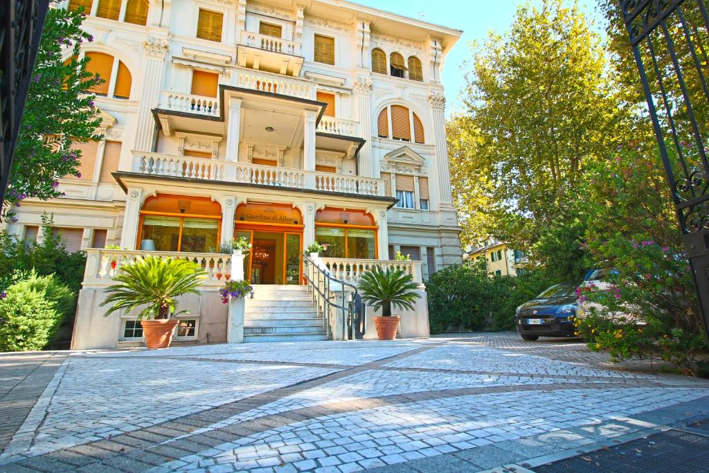
<path id="1" fill-rule="evenodd" d="M 316 269 L 316 272 L 314 272 L 314 274 L 317 274 L 318 276 L 317 282 L 314 280 L 314 274 L 313 279 L 311 279 L 311 272 L 309 270 L 311 267 Z M 330 309 L 334 308 L 342 311 L 342 340 L 345 340 L 345 335 L 347 333 L 348 326 L 352 327 L 352 334 L 350 336 L 350 340 L 354 340 L 354 319 L 356 315 L 354 311 L 354 301 L 357 299 L 357 286 L 355 286 L 354 284 L 350 284 L 349 282 L 336 279 L 330 274 L 330 272 L 318 266 L 316 262 L 311 260 L 311 257 L 309 257 L 308 255 L 303 255 L 303 277 L 305 277 L 306 281 L 308 282 L 308 286 L 313 288 L 313 301 L 317 301 L 318 296 L 320 296 L 320 299 L 323 301 L 323 311 L 325 315 L 325 331 L 328 335 L 328 338 L 330 338 Z M 330 301 L 329 294 L 331 282 L 336 282 L 337 284 L 340 284 L 340 292 L 342 295 L 343 304 L 342 306 L 335 304 L 333 301 Z M 350 297 L 347 300 L 346 304 L 345 286 L 352 288 L 352 291 L 350 291 Z M 320 304 L 318 304 L 318 310 L 320 310 Z M 349 321 L 352 321 L 352 323 L 348 323 Z"/>

